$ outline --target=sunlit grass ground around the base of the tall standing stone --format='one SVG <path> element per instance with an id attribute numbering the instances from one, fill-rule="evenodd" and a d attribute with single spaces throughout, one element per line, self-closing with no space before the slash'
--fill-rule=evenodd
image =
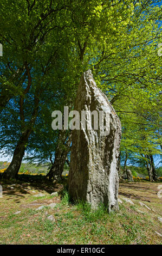
<path id="1" fill-rule="evenodd" d="M 161 237 L 155 233 L 161 234 L 159 183 L 121 183 L 119 198 L 123 203 L 119 211 L 110 214 L 103 205 L 94 211 L 81 201 L 70 204 L 62 184 L 50 184 L 42 179 L 1 184 L 1 244 L 161 244 Z M 51 196 L 54 191 L 59 196 Z M 40 192 L 45 196 L 35 197 Z M 134 205 L 125 202 L 125 197 L 131 198 Z M 139 201 L 153 211 L 139 205 Z M 57 205 L 50 209 L 48 205 L 53 202 Z M 36 211 L 41 205 L 46 208 Z M 15 215 L 17 211 L 21 213 Z M 54 221 L 48 219 L 50 215 Z"/>

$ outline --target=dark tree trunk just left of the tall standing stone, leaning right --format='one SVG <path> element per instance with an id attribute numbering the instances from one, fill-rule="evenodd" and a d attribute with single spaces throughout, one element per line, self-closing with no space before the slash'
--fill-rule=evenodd
<path id="1" fill-rule="evenodd" d="M 63 131 L 64 132 L 64 131 Z M 62 139 L 62 132 L 60 132 L 60 136 Z M 56 152 L 55 152 L 55 160 L 53 165 L 51 166 L 49 173 L 46 175 L 51 180 L 52 178 L 55 180 L 62 180 L 61 174 L 63 172 L 64 163 L 66 162 L 67 154 L 70 150 L 70 144 L 71 144 L 71 135 L 66 136 L 66 139 L 64 139 L 65 143 L 62 145 L 58 145 Z"/>

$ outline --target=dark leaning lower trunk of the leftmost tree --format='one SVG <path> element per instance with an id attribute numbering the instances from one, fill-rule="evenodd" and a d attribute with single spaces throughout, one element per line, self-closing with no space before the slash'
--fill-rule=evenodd
<path id="1" fill-rule="evenodd" d="M 30 133 L 31 131 L 28 131 L 25 133 L 25 135 L 21 136 L 20 141 L 17 143 L 17 146 L 14 150 L 12 161 L 7 170 L 5 170 L 2 175 L 3 179 L 15 179 L 17 177 L 25 152 L 25 144 L 28 141 Z"/>

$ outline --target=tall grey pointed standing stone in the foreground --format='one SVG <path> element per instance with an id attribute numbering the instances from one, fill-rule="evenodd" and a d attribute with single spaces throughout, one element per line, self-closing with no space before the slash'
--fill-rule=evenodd
<path id="1" fill-rule="evenodd" d="M 80 121 L 80 130 L 72 131 L 72 151 L 69 170 L 69 196 L 81 199 L 97 208 L 100 203 L 108 211 L 118 206 L 118 157 L 121 124 L 111 103 L 96 86 L 90 70 L 83 73 L 74 109 L 79 111 L 105 111 L 109 113 L 109 134 L 101 136 L 99 130 L 88 130 L 89 115 L 86 114 L 86 129 Z M 81 119 L 81 118 L 80 118 Z"/>

